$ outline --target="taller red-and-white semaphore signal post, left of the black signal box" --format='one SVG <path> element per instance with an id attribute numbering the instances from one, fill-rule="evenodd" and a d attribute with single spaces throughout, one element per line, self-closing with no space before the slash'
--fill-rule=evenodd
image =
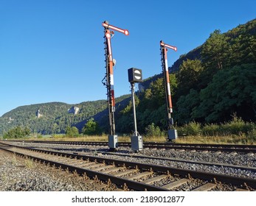
<path id="1" fill-rule="evenodd" d="M 108 135 L 108 146 L 111 150 L 116 149 L 117 147 L 117 135 L 115 134 L 115 124 L 114 124 L 114 111 L 115 111 L 115 101 L 114 101 L 114 73 L 113 67 L 115 64 L 115 60 L 112 55 L 111 49 L 111 38 L 114 35 L 114 31 L 121 32 L 124 35 L 129 35 L 127 29 L 120 29 L 117 26 L 112 26 L 108 24 L 108 21 L 104 21 L 102 26 L 104 27 L 105 33 L 105 82 L 103 85 L 107 88 L 107 96 L 108 96 L 108 117 L 109 117 L 109 125 L 110 125 L 110 134 Z"/>

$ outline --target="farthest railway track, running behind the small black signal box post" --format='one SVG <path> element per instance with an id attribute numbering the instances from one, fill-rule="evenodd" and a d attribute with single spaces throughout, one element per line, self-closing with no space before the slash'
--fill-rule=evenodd
<path id="1" fill-rule="evenodd" d="M 108 146 L 108 142 L 100 142 L 100 141 L 98 142 L 94 142 L 94 141 L 17 141 L 17 142 L 67 144 L 67 145 L 80 145 L 80 146 L 81 145 Z M 118 146 L 131 147 L 131 143 L 119 142 Z M 144 142 L 143 147 L 150 148 L 150 149 L 177 149 L 177 150 L 195 150 L 195 151 L 256 153 L 256 145 Z"/>

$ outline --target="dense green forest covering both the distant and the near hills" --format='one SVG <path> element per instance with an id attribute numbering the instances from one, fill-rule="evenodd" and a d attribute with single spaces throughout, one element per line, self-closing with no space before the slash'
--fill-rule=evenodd
<path id="1" fill-rule="evenodd" d="M 195 121 L 221 124 L 234 114 L 243 121 L 256 121 L 256 19 L 226 33 L 215 30 L 205 43 L 170 67 L 173 118 L 176 125 Z M 160 60 L 159 60 L 160 62 Z M 136 93 L 139 132 L 149 125 L 167 129 L 162 74 L 145 79 Z M 130 95 L 116 99 L 116 130 L 131 133 L 133 117 Z M 78 107 L 77 114 L 69 113 Z M 40 110 L 41 117 L 36 113 Z M 63 133 L 66 127 L 80 132 L 94 118 L 108 133 L 106 100 L 65 104 L 60 102 L 18 107 L 0 118 L 0 135 L 13 127 L 28 127 L 41 134 Z"/>

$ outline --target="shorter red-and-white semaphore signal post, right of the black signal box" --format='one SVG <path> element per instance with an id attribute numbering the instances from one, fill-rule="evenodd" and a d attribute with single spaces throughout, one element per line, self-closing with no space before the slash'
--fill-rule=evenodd
<path id="1" fill-rule="evenodd" d="M 167 105 L 167 116 L 168 116 L 168 139 L 173 140 L 178 138 L 176 129 L 173 129 L 173 104 L 170 94 L 170 79 L 169 79 L 169 69 L 168 69 L 168 63 L 167 63 L 167 48 L 173 49 L 174 51 L 177 51 L 176 46 L 170 46 L 166 43 L 164 43 L 162 40 L 160 41 L 160 50 L 161 50 L 161 57 L 162 57 L 162 71 L 164 74 L 165 79 L 165 95 L 166 95 L 166 105 Z"/>

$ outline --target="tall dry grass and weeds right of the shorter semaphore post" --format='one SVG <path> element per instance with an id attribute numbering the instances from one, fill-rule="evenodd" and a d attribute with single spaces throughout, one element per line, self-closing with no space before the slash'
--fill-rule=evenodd
<path id="1" fill-rule="evenodd" d="M 256 124 L 237 116 L 224 124 L 204 124 L 195 121 L 177 127 L 180 136 L 176 143 L 234 143 L 256 144 Z"/>

